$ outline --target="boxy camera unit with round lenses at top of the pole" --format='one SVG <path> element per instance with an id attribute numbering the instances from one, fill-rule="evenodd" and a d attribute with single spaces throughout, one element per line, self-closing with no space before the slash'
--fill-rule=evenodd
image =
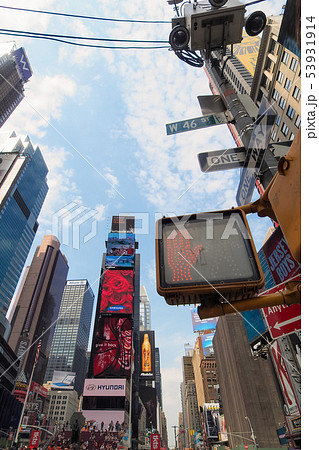
<path id="1" fill-rule="evenodd" d="M 266 24 L 261 11 L 245 18 L 245 5 L 239 0 L 209 0 L 207 4 L 194 1 L 183 6 L 184 15 L 172 19 L 169 42 L 174 51 L 226 48 L 241 42 L 244 26 L 248 35 L 256 36 Z"/>

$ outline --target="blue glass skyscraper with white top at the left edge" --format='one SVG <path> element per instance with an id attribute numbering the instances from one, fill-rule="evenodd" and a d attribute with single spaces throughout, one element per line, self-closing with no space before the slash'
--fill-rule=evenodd
<path id="1" fill-rule="evenodd" d="M 48 192 L 47 173 L 40 149 L 34 149 L 28 136 L 0 134 L 0 334 L 4 336 L 5 316 Z"/>

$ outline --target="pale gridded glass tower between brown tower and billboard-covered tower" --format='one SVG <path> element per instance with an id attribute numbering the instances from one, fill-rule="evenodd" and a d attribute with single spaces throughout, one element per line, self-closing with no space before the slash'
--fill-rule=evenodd
<path id="1" fill-rule="evenodd" d="M 75 372 L 75 390 L 80 394 L 87 368 L 94 294 L 87 280 L 69 280 L 63 291 L 59 318 L 55 327 L 45 382 L 55 370 Z"/>

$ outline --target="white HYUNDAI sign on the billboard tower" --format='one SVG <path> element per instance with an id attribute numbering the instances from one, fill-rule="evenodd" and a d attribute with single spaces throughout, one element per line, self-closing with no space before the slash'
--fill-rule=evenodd
<path id="1" fill-rule="evenodd" d="M 125 378 L 86 378 L 83 396 L 86 397 L 125 397 Z"/>

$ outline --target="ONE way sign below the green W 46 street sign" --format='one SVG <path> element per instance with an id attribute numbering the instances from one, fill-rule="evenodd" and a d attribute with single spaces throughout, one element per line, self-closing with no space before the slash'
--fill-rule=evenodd
<path id="1" fill-rule="evenodd" d="M 218 172 L 242 167 L 246 158 L 246 150 L 245 147 L 228 148 L 198 153 L 197 157 L 202 172 Z"/>

